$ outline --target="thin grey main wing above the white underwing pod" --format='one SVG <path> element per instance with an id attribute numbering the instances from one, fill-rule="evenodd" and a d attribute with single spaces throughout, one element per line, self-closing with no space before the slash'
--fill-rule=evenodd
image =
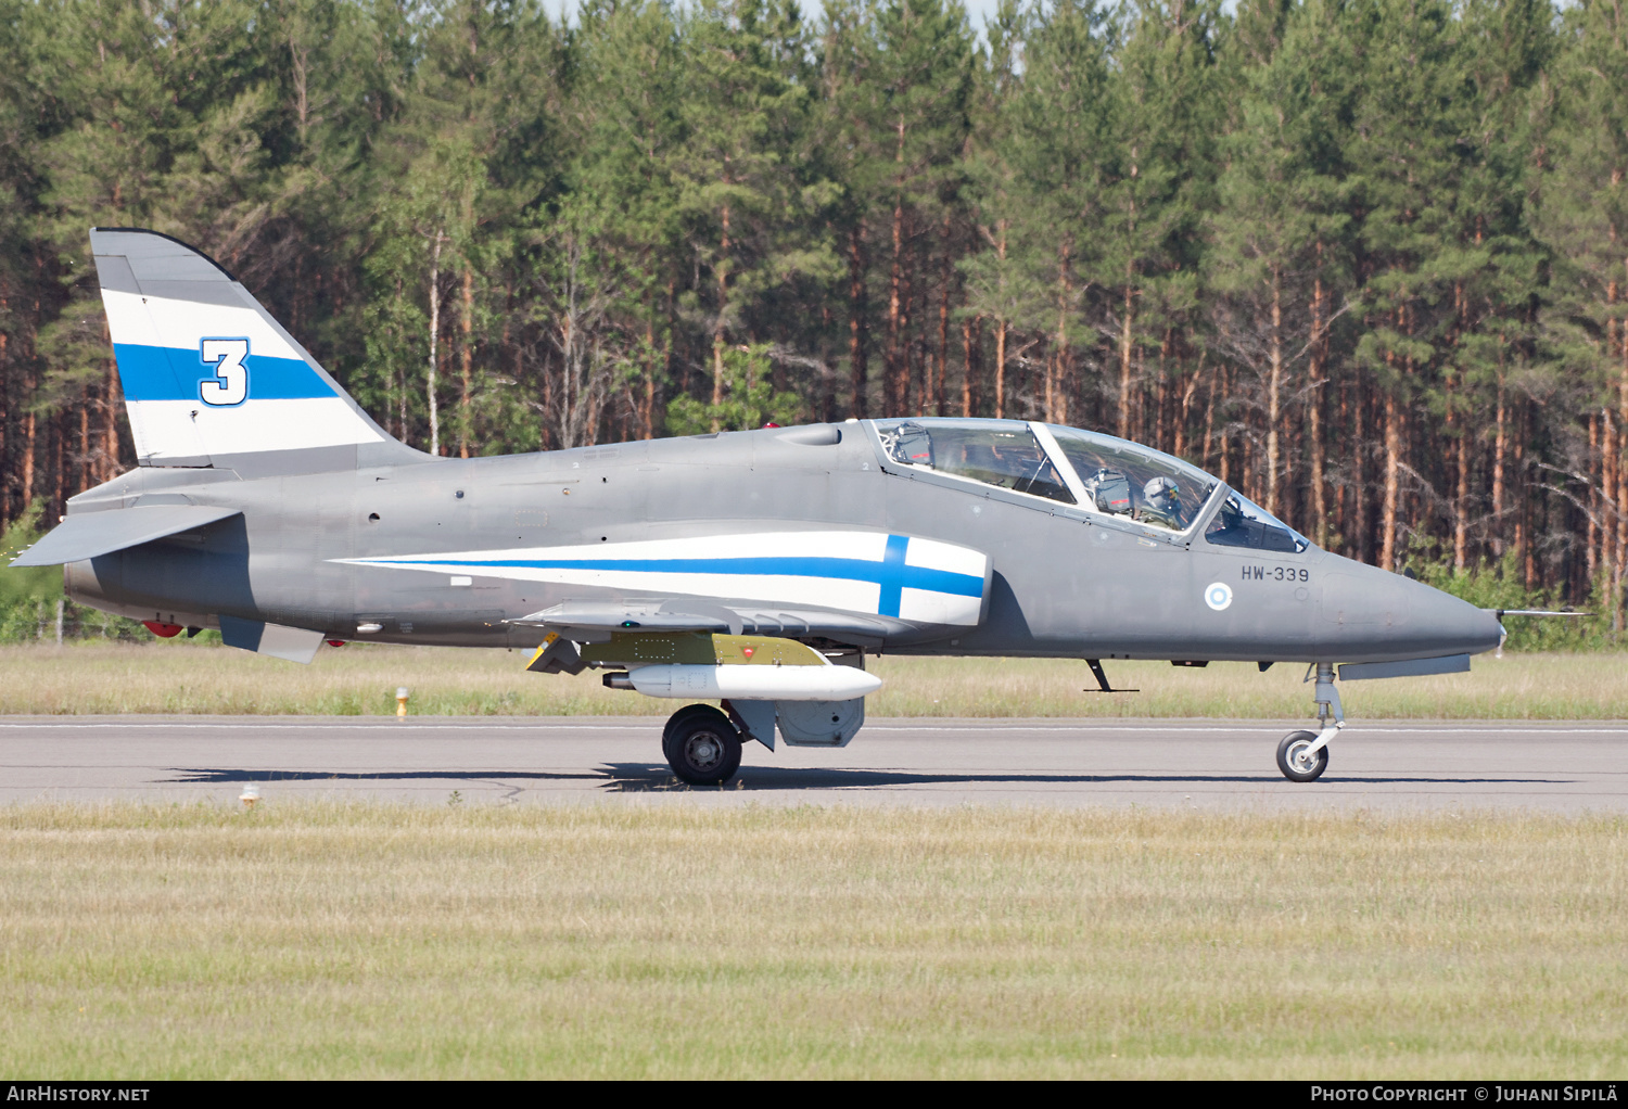
<path id="1" fill-rule="evenodd" d="M 824 635 L 868 645 L 917 630 L 918 624 L 887 616 L 861 616 L 825 609 L 718 603 L 702 598 L 650 601 L 563 601 L 554 607 L 510 620 L 544 627 L 565 638 L 594 642 L 610 632 L 728 632 L 729 635 Z"/>

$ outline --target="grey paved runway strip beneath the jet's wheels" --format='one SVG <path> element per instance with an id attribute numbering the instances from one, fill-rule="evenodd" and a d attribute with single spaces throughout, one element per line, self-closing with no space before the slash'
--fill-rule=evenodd
<path id="1" fill-rule="evenodd" d="M 689 790 L 661 720 L 8 717 L 0 803 L 278 798 L 444 803 L 1444 806 L 1628 811 L 1628 723 L 1353 723 L 1320 782 L 1288 728 L 1205 720 L 876 720 L 842 751 L 749 743 L 737 783 Z"/>

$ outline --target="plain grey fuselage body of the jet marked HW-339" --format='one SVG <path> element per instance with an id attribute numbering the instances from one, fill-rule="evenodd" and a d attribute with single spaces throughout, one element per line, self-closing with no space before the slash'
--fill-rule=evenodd
<path id="1" fill-rule="evenodd" d="M 190 503 L 241 516 L 72 563 L 67 586 L 143 620 L 218 625 L 225 614 L 335 640 L 529 648 L 542 630 L 508 620 L 627 591 L 342 560 L 840 526 L 957 544 L 993 567 L 975 627 L 908 629 L 871 650 L 1359 663 L 1478 653 L 1501 637 L 1491 612 L 1315 546 L 1213 546 L 1201 521 L 1174 536 L 913 472 L 889 461 L 873 425 L 840 430 L 829 445 L 760 430 L 259 479 L 142 467 L 70 511 Z M 1223 607 L 1206 603 L 1214 583 L 1229 588 Z M 368 625 L 378 630 L 358 632 Z"/>

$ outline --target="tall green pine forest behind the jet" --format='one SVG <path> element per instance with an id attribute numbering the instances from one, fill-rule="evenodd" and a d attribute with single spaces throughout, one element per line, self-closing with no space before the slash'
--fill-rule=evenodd
<path id="1" fill-rule="evenodd" d="M 1620 0 L 0 0 L 0 528 L 145 226 L 427 451 L 1071 423 L 1620 629 L 1625 173 Z"/>

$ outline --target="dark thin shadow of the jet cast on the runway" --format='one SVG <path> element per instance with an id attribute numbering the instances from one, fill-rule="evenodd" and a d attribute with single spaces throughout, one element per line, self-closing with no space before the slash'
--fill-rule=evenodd
<path id="1" fill-rule="evenodd" d="M 249 782 L 599 782 L 610 793 L 685 790 L 659 762 L 610 762 L 597 770 L 246 770 L 228 767 L 169 767 L 173 783 L 231 785 Z M 741 767 L 726 790 L 840 790 L 905 785 L 1271 785 L 1293 788 L 1275 774 L 918 774 L 847 767 Z M 1568 785 L 1569 778 L 1423 778 L 1403 775 L 1330 777 L 1320 785 Z"/>

